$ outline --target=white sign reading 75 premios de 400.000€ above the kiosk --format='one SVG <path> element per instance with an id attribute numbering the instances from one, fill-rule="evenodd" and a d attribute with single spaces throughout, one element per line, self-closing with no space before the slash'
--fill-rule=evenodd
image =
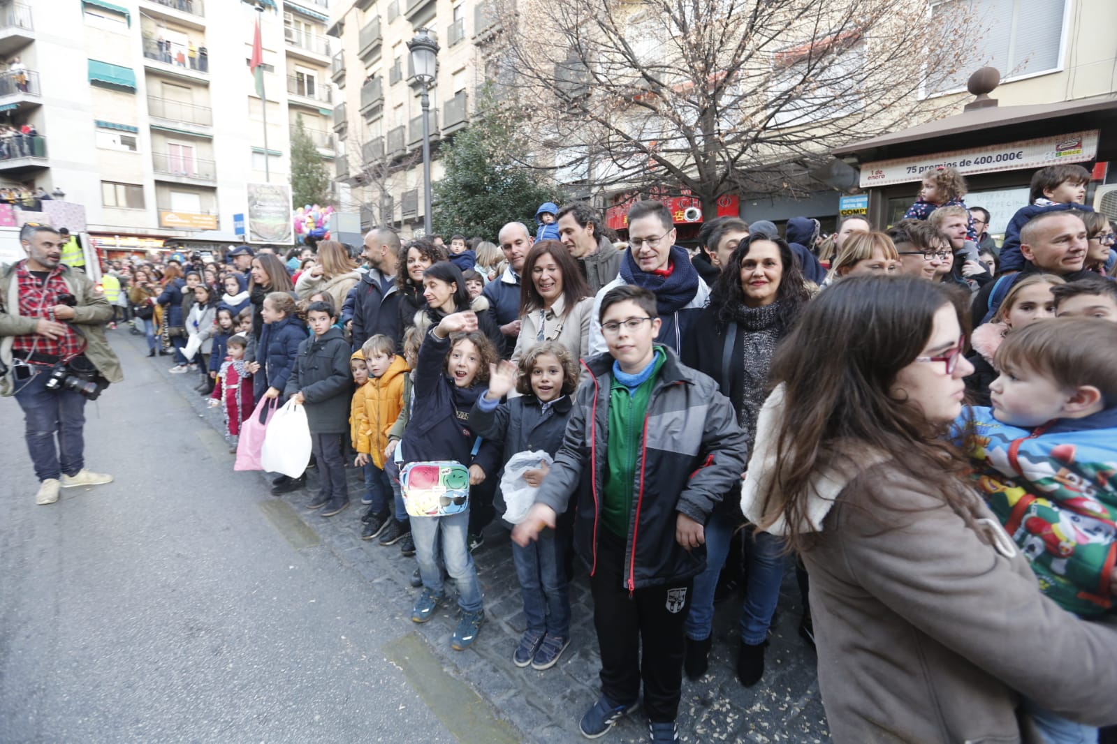
<path id="1" fill-rule="evenodd" d="M 1092 161 L 1097 154 L 1098 131 L 1076 132 L 992 147 L 866 163 L 861 166 L 861 187 L 922 181 L 924 173 L 935 168 L 955 168 L 962 174 L 1019 171 L 1056 163 L 1083 163 Z"/>

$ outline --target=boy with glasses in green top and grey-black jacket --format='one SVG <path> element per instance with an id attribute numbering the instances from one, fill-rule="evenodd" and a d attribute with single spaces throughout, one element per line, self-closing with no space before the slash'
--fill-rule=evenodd
<path id="1" fill-rule="evenodd" d="M 651 740 L 675 742 L 704 524 L 745 467 L 746 438 L 717 384 L 655 342 L 663 325 L 655 294 L 623 284 L 600 305 L 608 352 L 584 363 L 590 383 L 513 540 L 526 547 L 554 529 L 577 492 L 574 544 L 590 567 L 602 667 L 582 735 L 596 738 L 633 711 L 642 679 Z"/>

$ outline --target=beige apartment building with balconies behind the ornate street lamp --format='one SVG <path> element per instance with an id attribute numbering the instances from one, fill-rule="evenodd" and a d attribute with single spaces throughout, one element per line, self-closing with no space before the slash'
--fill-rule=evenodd
<path id="1" fill-rule="evenodd" d="M 494 20 L 487 2 L 467 0 L 340 0 L 328 33 L 341 40 L 332 59 L 338 88 L 336 181 L 340 209 L 360 212 L 362 230 L 391 224 L 421 232 L 420 88 L 408 41 L 426 28 L 438 40 L 437 79 L 429 89 L 431 180 L 442 176 L 439 147 L 469 124 L 485 79 Z"/>

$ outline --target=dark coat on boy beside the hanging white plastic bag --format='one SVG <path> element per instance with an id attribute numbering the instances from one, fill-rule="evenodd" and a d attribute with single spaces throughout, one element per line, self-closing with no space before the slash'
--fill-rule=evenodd
<path id="1" fill-rule="evenodd" d="M 350 355 L 345 335 L 336 328 L 298 345 L 298 356 L 284 395 L 303 393 L 311 434 L 350 431 L 350 393 L 353 389 Z"/>

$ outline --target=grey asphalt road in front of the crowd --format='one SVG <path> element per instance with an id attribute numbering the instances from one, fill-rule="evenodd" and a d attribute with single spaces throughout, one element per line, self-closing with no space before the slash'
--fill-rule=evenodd
<path id="1" fill-rule="evenodd" d="M 37 506 L 0 399 L 0 742 L 494 741 L 484 712 L 447 715 L 476 694 L 408 608 L 233 472 L 125 332 L 126 380 L 86 405 L 87 466 L 113 483 Z"/>

